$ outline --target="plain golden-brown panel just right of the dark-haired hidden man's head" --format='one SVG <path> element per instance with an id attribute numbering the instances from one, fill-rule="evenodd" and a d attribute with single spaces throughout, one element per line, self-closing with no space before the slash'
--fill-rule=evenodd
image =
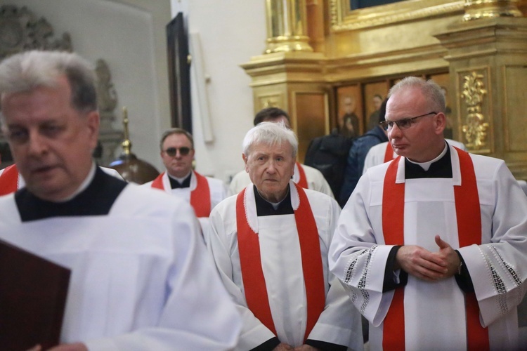
<path id="1" fill-rule="evenodd" d="M 304 161 L 311 139 L 326 131 L 327 95 L 325 93 L 295 93 L 297 110 L 297 135 L 299 152 L 297 159 Z"/>

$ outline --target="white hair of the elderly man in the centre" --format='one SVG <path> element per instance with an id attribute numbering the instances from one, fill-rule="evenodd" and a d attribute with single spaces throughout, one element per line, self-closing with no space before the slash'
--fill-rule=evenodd
<path id="1" fill-rule="evenodd" d="M 282 143 L 289 143 L 293 149 L 292 157 L 297 157 L 298 140 L 294 131 L 288 129 L 283 121 L 276 122 L 261 122 L 254 126 L 247 132 L 243 138 L 243 154 L 249 156 L 251 147 L 254 144 L 264 143 L 266 145 L 278 145 Z"/>

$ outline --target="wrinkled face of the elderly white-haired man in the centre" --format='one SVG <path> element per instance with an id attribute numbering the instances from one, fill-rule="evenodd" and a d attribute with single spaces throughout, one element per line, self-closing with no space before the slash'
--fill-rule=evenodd
<path id="1" fill-rule="evenodd" d="M 249 155 L 243 155 L 245 171 L 261 196 L 267 201 L 281 201 L 287 194 L 294 173 L 293 148 L 289 143 L 252 145 Z"/>

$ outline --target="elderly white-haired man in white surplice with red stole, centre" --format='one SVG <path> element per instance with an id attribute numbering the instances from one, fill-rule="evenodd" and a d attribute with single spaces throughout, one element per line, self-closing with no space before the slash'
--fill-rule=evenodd
<path id="1" fill-rule="evenodd" d="M 252 183 L 210 216 L 207 245 L 243 318 L 236 350 L 362 350 L 360 314 L 328 269 L 339 205 L 291 180 L 297 149 L 282 123 L 252 128 Z"/>

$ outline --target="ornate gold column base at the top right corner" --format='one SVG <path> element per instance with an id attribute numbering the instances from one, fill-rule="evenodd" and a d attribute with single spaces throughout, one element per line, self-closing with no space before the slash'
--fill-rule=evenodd
<path id="1" fill-rule="evenodd" d="M 465 0 L 464 21 L 493 17 L 522 17 L 518 0 Z"/>

